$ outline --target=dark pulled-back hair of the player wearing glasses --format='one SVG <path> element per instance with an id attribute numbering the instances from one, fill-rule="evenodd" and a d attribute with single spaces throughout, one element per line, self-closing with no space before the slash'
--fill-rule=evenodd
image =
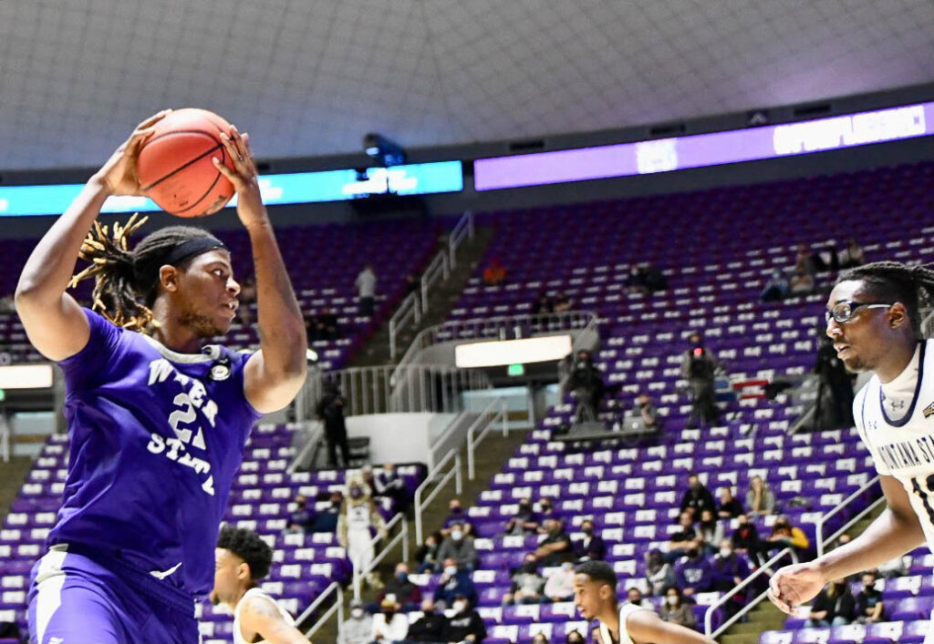
<path id="1" fill-rule="evenodd" d="M 842 273 L 837 284 L 850 280 L 862 282 L 863 291 L 873 300 L 904 304 L 915 337 L 921 337 L 921 307 L 934 304 L 934 264 L 876 261 Z"/>

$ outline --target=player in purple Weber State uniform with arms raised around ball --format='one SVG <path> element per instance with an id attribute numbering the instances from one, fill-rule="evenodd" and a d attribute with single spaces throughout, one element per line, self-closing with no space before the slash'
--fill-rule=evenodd
<path id="1" fill-rule="evenodd" d="M 203 345 L 230 329 L 240 290 L 214 236 L 174 226 L 130 250 L 136 225 L 108 233 L 95 221 L 109 195 L 140 194 L 136 155 L 164 115 L 143 121 L 92 176 L 17 287 L 30 341 L 64 371 L 71 439 L 63 507 L 29 591 L 39 644 L 199 641 L 194 600 L 213 585 L 218 526 L 249 430 L 304 382 L 302 315 L 246 134 L 222 136 L 234 170 L 216 165 L 233 182 L 252 245 L 257 353 Z M 92 266 L 75 281 L 96 277 L 93 311 L 65 292 L 79 254 Z"/>

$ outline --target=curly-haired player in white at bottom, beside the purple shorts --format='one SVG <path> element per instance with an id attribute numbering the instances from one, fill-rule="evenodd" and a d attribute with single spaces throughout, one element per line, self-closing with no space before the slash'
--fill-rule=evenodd
<path id="1" fill-rule="evenodd" d="M 289 612 L 257 585 L 273 562 L 258 534 L 225 525 L 215 554 L 211 602 L 233 610 L 233 644 L 308 644 Z"/>

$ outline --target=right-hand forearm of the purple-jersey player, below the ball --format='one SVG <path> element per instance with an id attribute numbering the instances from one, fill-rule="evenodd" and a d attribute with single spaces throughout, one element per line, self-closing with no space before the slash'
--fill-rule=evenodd
<path id="1" fill-rule="evenodd" d="M 308 340 L 289 273 L 268 219 L 248 227 L 256 267 L 260 346 L 266 370 L 304 378 Z"/>

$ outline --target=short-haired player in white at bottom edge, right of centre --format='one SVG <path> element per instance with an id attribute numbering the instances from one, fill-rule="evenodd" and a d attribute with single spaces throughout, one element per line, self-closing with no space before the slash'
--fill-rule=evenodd
<path id="1" fill-rule="evenodd" d="M 662 622 L 656 612 L 616 599 L 616 572 L 605 561 L 574 568 L 574 605 L 585 620 L 599 620 L 594 644 L 716 644 L 676 623 Z"/>

